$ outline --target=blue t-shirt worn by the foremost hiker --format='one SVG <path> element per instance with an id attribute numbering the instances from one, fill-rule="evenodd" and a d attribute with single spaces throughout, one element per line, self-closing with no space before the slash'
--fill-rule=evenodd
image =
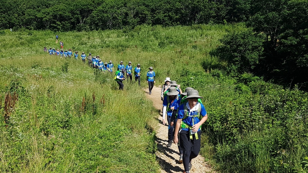
<path id="1" fill-rule="evenodd" d="M 181 106 L 179 107 L 179 110 L 177 112 L 177 119 L 184 118 L 184 113 L 185 113 L 185 110 L 186 110 L 186 103 L 181 104 Z M 200 115 L 204 117 L 206 115 L 206 110 L 205 110 L 203 104 L 201 104 L 199 102 L 195 106 L 198 106 L 198 104 L 200 104 L 200 106 L 201 106 Z M 190 110 L 190 109 L 188 108 L 188 110 Z M 197 124 L 197 123 L 200 122 L 200 119 L 198 117 L 192 117 L 192 115 L 198 115 L 198 111 L 196 110 L 196 111 L 189 112 L 188 117 L 186 117 L 185 119 L 182 119 L 182 121 L 190 127 L 192 127 L 194 124 Z M 182 130 L 189 131 L 188 128 L 182 128 Z M 200 131 L 200 128 L 199 128 L 198 131 Z"/>

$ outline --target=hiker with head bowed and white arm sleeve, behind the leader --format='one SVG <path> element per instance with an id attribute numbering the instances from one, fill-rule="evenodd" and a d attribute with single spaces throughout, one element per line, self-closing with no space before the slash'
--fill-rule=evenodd
<path id="1" fill-rule="evenodd" d="M 173 139 L 173 126 L 171 125 L 171 116 L 174 107 L 177 104 L 177 100 L 179 99 L 179 91 L 176 91 L 174 86 L 169 88 L 169 92 L 164 97 L 163 101 L 163 124 L 165 125 L 165 116 L 167 112 L 167 121 L 168 121 L 168 144 L 167 147 L 171 147 L 172 139 Z"/>

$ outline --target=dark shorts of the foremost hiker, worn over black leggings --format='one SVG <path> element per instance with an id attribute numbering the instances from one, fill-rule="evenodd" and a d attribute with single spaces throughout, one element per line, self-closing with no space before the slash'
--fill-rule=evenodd
<path id="1" fill-rule="evenodd" d="M 201 131 L 198 131 L 198 138 L 196 139 L 195 134 L 193 134 L 193 139 L 190 139 L 189 137 L 189 131 L 180 131 L 180 146 L 183 149 L 183 151 L 194 151 L 194 152 L 200 152 L 201 147 Z"/>

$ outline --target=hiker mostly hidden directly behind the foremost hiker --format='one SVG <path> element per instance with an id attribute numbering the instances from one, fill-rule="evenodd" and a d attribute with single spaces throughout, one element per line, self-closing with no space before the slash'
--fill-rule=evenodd
<path id="1" fill-rule="evenodd" d="M 193 90 L 193 88 L 187 87 L 185 89 L 185 92 L 180 95 L 179 99 L 177 100 L 177 104 L 172 111 L 172 115 L 171 115 L 171 119 L 170 119 L 170 126 L 173 126 L 173 134 L 174 134 L 174 131 L 175 131 L 175 125 L 176 125 L 176 121 L 177 121 L 177 117 L 176 117 L 177 110 L 178 110 L 179 106 L 181 105 L 181 100 L 183 99 L 183 97 L 185 97 L 185 98 L 187 97 L 187 92 L 190 91 L 190 90 Z M 177 145 L 177 147 L 178 147 L 179 153 L 180 153 L 179 162 L 183 163 L 183 149 L 180 145 Z"/>

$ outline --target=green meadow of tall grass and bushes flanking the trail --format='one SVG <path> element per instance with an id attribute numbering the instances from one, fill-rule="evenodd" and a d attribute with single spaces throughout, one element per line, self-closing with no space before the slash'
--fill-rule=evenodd
<path id="1" fill-rule="evenodd" d="M 197 89 L 209 119 L 201 154 L 221 172 L 306 172 L 307 93 L 225 72 L 213 51 L 238 25 L 137 26 L 89 32 L 5 30 L 0 36 L 0 172 L 159 172 L 158 111 L 146 72 Z M 92 70 L 59 48 L 141 64 L 141 88 Z M 166 134 L 167 135 L 167 134 Z"/>

